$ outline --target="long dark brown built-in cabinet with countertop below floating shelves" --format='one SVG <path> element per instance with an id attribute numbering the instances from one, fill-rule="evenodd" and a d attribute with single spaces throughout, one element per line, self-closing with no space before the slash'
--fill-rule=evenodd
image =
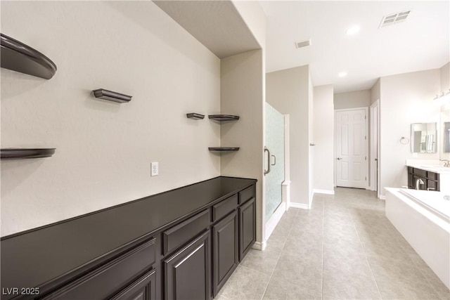
<path id="1" fill-rule="evenodd" d="M 210 300 L 255 242 L 255 185 L 212 178 L 3 237 L 1 299 Z"/>

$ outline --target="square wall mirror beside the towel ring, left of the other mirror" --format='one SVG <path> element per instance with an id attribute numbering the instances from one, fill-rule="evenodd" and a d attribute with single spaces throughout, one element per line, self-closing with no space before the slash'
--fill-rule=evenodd
<path id="1" fill-rule="evenodd" d="M 437 152 L 437 122 L 411 124 L 411 152 Z"/>

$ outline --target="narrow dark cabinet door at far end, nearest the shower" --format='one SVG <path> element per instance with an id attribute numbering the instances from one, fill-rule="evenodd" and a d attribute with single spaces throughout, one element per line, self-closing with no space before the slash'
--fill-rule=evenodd
<path id="1" fill-rule="evenodd" d="M 239 207 L 239 261 L 244 259 L 256 240 L 256 201 L 252 198 Z"/>

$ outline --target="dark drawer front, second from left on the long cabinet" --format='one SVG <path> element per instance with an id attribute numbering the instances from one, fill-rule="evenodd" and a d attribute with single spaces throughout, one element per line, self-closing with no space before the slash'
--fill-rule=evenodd
<path id="1" fill-rule="evenodd" d="M 162 233 L 164 255 L 172 252 L 210 226 L 210 210 L 196 214 Z"/>

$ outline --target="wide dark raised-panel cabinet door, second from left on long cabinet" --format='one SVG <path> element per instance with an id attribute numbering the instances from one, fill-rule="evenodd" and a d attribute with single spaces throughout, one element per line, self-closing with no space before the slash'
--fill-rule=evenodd
<path id="1" fill-rule="evenodd" d="M 210 230 L 165 259 L 165 299 L 211 298 Z"/>

